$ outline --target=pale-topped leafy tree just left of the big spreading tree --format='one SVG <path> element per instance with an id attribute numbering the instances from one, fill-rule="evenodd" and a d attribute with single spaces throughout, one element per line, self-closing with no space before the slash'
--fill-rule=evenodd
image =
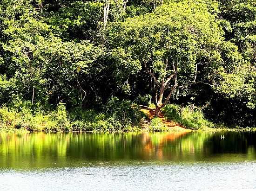
<path id="1" fill-rule="evenodd" d="M 90 71 L 95 70 L 94 62 L 100 52 L 100 48 L 88 41 L 74 43 L 57 39 L 49 42 L 45 49 L 48 94 L 55 96 L 57 102 L 64 99 L 75 104 L 79 100 L 82 105 L 87 96 L 84 83 L 88 83 Z"/>

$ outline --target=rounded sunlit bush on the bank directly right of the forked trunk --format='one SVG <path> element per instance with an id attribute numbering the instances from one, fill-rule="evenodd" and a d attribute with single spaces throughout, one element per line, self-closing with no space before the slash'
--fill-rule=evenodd
<path id="1" fill-rule="evenodd" d="M 169 120 L 181 123 L 190 129 L 197 130 L 213 127 L 213 123 L 204 118 L 200 109 L 191 111 L 189 107 L 181 108 L 181 106 L 170 104 L 166 105 L 162 111 Z"/>

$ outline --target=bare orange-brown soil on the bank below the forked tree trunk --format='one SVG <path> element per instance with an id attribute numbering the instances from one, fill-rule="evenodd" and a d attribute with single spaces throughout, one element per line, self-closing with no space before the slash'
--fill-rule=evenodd
<path id="1" fill-rule="evenodd" d="M 143 127 L 148 128 L 149 122 L 154 118 L 155 116 L 155 108 L 141 108 L 141 111 L 148 115 L 148 121 L 144 121 Z M 162 120 L 165 127 L 167 127 L 170 130 L 175 131 L 192 131 L 191 129 L 187 129 L 184 126 L 182 126 L 179 123 L 176 123 L 175 121 L 167 120 L 164 118 L 164 115 L 162 112 L 160 112 L 159 118 Z"/>

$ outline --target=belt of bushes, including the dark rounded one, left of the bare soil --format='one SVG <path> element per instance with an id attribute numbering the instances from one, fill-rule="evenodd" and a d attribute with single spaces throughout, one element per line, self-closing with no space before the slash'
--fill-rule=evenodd
<path id="1" fill-rule="evenodd" d="M 0 128 L 22 128 L 29 131 L 128 131 L 144 116 L 130 101 L 112 98 L 105 111 L 74 108 L 67 112 L 64 103 L 46 111 L 31 102 L 15 102 L 13 108 L 0 108 Z"/>

